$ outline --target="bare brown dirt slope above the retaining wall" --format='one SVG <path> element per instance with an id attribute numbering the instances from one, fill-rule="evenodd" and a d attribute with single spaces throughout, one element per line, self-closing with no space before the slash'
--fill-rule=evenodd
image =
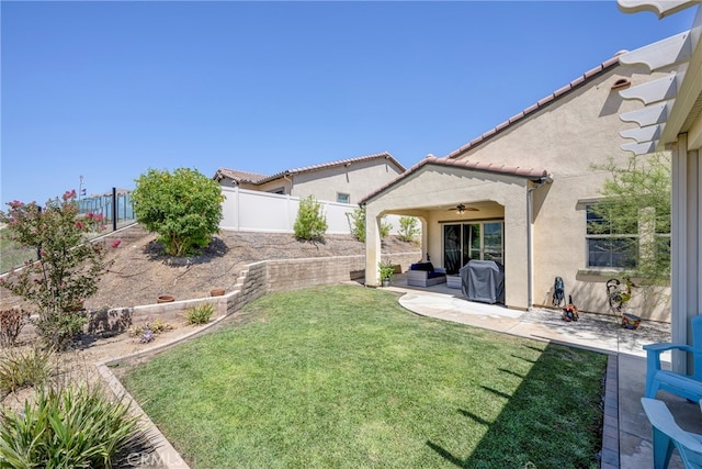
<path id="1" fill-rule="evenodd" d="M 110 247 L 120 239 L 120 246 Z M 110 235 L 105 242 L 114 263 L 100 281 L 98 294 L 86 302 L 88 309 L 125 308 L 156 303 L 160 294 L 178 300 L 203 298 L 212 288 L 230 291 L 247 264 L 270 259 L 350 256 L 365 254 L 365 246 L 350 235 L 327 235 L 322 243 L 298 242 L 292 234 L 222 232 L 201 255 L 173 258 L 163 254 L 156 235 L 133 225 Z M 409 253 L 419 248 L 389 236 L 383 253 Z M 0 308 L 19 300 L 1 292 Z"/>

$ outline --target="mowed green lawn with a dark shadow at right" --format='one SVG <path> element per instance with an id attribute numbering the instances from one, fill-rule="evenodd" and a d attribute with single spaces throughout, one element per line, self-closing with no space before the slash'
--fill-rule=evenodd
<path id="1" fill-rule="evenodd" d="M 604 355 L 350 286 L 245 314 L 124 377 L 194 468 L 599 467 Z"/>

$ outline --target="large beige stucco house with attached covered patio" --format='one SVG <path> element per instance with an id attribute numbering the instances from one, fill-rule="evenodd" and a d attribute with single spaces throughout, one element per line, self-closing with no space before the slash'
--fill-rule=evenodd
<path id="1" fill-rule="evenodd" d="M 422 222 L 423 260 L 446 273 L 471 259 L 502 264 L 508 308 L 551 305 L 554 279 L 562 277 L 580 310 L 608 313 L 605 282 L 621 276 L 626 259 L 612 247 L 615 235 L 588 230 L 588 222 L 598 222 L 590 208 L 601 200 L 609 176 L 593 165 L 610 157 L 626 165 L 619 132 L 627 124 L 620 114 L 636 104 L 619 91 L 663 77 L 645 67 L 621 67 L 620 55 L 363 198 L 366 284 L 378 284 L 378 221 L 412 215 Z M 669 319 L 665 301 L 643 308 L 634 297 L 630 305 L 642 317 Z"/>

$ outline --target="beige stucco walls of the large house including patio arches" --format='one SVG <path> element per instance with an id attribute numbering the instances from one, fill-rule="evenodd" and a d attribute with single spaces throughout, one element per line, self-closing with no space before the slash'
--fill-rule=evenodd
<path id="1" fill-rule="evenodd" d="M 533 192 L 533 305 L 551 305 L 554 278 L 559 276 L 565 280 L 566 295 L 571 294 L 582 311 L 609 313 L 604 283 L 621 272 L 587 269 L 581 202 L 597 199 L 609 176 L 595 170 L 593 165 L 612 157 L 624 166 L 629 158 L 620 148 L 624 142 L 619 132 L 634 124 L 622 123 L 619 114 L 637 109 L 638 104 L 622 100 L 612 85 L 622 78 L 637 85 L 660 77 L 648 75 L 644 68 L 613 67 L 512 124 L 500 125 L 499 132 L 458 158 L 547 170 L 553 178 Z M 529 304 L 526 191 L 534 186 L 525 178 L 424 165 L 367 201 L 366 219 L 375 220 L 384 213 L 420 216 L 426 224 L 427 253 L 422 254 L 442 265 L 441 222 L 503 217 L 506 303 L 524 309 Z M 456 214 L 445 209 L 472 202 L 484 203 L 480 212 Z M 491 204 L 485 205 L 486 202 Z M 367 266 L 377 260 L 374 252 L 380 238 L 375 231 L 373 223 L 366 225 Z M 660 290 L 665 297 L 667 288 Z M 650 298 L 635 291 L 630 311 L 645 319 L 667 321 L 668 298 Z"/>

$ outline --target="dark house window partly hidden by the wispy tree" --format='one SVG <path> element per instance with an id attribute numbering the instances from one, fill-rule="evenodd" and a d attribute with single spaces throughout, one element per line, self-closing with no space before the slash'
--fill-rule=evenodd
<path id="1" fill-rule="evenodd" d="M 596 205 L 587 205 L 587 266 L 590 268 L 631 269 L 636 267 L 638 230 L 636 225 L 616 228 Z"/>

